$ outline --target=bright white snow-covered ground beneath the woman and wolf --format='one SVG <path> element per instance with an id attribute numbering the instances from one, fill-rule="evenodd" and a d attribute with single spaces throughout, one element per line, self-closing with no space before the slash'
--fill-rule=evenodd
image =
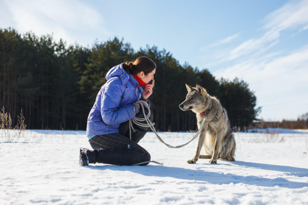
<path id="1" fill-rule="evenodd" d="M 159 134 L 171 145 L 193 136 Z M 0 204 L 308 204 L 308 134 L 235 133 L 235 162 L 187 164 L 197 139 L 171 149 L 148 133 L 140 145 L 164 165 L 142 167 L 79 166 L 83 131 L 26 136 L 42 140 L 0 143 Z"/>

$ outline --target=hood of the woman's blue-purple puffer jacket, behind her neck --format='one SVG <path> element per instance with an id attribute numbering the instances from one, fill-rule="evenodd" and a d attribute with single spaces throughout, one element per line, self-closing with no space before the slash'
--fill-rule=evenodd
<path id="1" fill-rule="evenodd" d="M 129 74 L 126 70 L 123 69 L 123 64 L 124 63 L 121 63 L 111 68 L 106 74 L 106 80 L 108 81 L 112 77 L 120 77 L 122 80 L 122 84 L 131 81 L 132 84 L 137 87 L 139 85 L 138 81 L 136 81 L 136 79 L 131 74 Z"/>

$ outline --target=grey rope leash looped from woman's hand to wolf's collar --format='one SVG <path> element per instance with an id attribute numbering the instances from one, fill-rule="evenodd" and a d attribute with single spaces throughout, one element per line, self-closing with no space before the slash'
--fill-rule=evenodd
<path id="1" fill-rule="evenodd" d="M 163 143 L 164 145 L 166 145 L 168 148 L 181 148 L 181 147 L 184 147 L 184 146 L 186 146 L 187 144 L 189 144 L 191 141 L 193 141 L 194 139 L 196 139 L 196 137 L 199 135 L 199 133 L 201 132 L 201 128 L 203 127 L 203 124 L 204 124 L 204 122 L 205 122 L 205 120 L 207 119 L 207 115 L 204 115 L 204 117 L 203 117 L 203 121 L 202 121 L 202 123 L 201 123 L 201 127 L 200 127 L 200 129 L 198 130 L 198 132 L 195 134 L 195 136 L 193 136 L 193 138 L 190 140 L 190 141 L 188 141 L 187 143 L 185 143 L 185 144 L 181 144 L 181 145 L 178 145 L 178 146 L 172 146 L 172 145 L 170 145 L 170 144 L 167 144 L 167 143 L 165 143 L 164 142 L 164 140 L 162 140 L 161 138 L 160 138 L 160 136 L 157 134 L 157 132 L 156 132 L 156 130 L 155 130 L 155 128 L 154 128 L 154 124 L 155 123 L 152 123 L 151 122 L 151 120 L 149 119 L 149 117 L 150 117 L 150 115 L 151 115 L 151 111 L 150 111 L 150 108 L 148 107 L 148 103 L 146 103 L 146 102 L 144 102 L 144 101 L 137 101 L 136 103 L 139 103 L 141 106 L 141 108 L 142 108 L 142 112 L 143 112 L 143 115 L 144 115 L 144 118 L 139 118 L 139 117 L 134 117 L 134 118 L 132 118 L 132 119 L 130 119 L 129 120 L 129 137 L 130 137 L 130 139 L 132 139 L 132 133 L 131 133 L 131 129 L 133 129 L 133 130 L 135 130 L 134 129 L 134 127 L 133 127 L 133 125 L 132 125 L 132 122 L 133 123 L 135 123 L 136 125 L 138 125 L 138 126 L 142 126 L 142 127 L 149 127 L 149 128 L 151 128 L 151 130 L 155 133 L 155 135 L 156 135 L 156 137 L 158 138 L 158 140 L 160 140 L 160 142 L 161 143 Z M 144 105 L 144 106 L 142 106 L 142 105 Z M 144 112 L 144 107 L 146 107 L 147 109 L 148 109 L 148 115 L 145 115 L 145 112 Z M 205 117 L 206 116 L 206 117 Z M 147 123 L 140 123 L 140 122 L 142 122 L 142 121 L 146 121 Z M 156 161 L 146 161 L 146 162 L 141 162 L 141 163 L 137 163 L 137 164 L 133 164 L 133 165 L 139 165 L 139 164 L 144 164 L 144 163 L 148 163 L 148 162 L 153 162 L 153 163 L 156 163 L 156 164 L 164 164 L 164 163 L 158 163 L 158 162 L 156 162 Z"/>

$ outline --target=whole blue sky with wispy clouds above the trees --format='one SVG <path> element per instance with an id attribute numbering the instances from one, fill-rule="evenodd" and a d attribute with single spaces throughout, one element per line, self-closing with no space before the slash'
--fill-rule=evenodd
<path id="1" fill-rule="evenodd" d="M 117 36 L 135 50 L 156 45 L 217 79 L 246 81 L 264 120 L 308 112 L 307 0 L 0 0 L 0 27 L 9 26 L 67 44 Z"/>

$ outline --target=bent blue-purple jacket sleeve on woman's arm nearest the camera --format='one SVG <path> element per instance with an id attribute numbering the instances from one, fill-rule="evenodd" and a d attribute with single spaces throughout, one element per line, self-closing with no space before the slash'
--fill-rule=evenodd
<path id="1" fill-rule="evenodd" d="M 119 79 L 114 79 L 105 85 L 101 96 L 101 115 L 107 125 L 120 124 L 136 116 L 133 104 L 120 107 L 124 92 Z"/>

